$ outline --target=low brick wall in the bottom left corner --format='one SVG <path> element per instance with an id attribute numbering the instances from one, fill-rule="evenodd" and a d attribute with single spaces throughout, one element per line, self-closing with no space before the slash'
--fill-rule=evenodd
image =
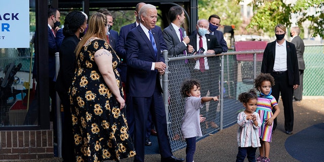
<path id="1" fill-rule="evenodd" d="M 0 161 L 53 156 L 53 130 L 0 131 Z"/>

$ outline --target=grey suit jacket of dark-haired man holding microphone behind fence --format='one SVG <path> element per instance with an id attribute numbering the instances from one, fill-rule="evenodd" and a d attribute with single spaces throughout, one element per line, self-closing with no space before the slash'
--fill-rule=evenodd
<path id="1" fill-rule="evenodd" d="M 182 33 L 185 31 L 182 27 L 180 29 L 182 30 Z M 184 50 L 187 50 L 186 45 L 180 42 L 172 24 L 163 30 L 163 38 L 166 42 L 169 55 L 181 55 Z"/>

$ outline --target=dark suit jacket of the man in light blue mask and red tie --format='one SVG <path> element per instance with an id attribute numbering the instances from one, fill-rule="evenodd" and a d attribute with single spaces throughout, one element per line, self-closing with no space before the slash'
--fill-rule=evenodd
<path id="1" fill-rule="evenodd" d="M 189 45 L 193 47 L 194 51 L 199 50 L 198 49 L 199 47 L 197 47 L 197 34 L 190 35 L 189 38 L 190 38 Z M 218 43 L 215 35 L 206 34 L 206 39 L 207 39 L 207 47 L 208 47 L 208 49 L 205 49 L 206 51 L 214 50 L 215 54 L 220 54 L 223 52 L 223 48 Z"/>

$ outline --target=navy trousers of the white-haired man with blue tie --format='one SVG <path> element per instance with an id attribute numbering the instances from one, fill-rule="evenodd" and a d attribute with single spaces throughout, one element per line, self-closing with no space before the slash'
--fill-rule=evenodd
<path id="1" fill-rule="evenodd" d="M 134 146 L 136 155 L 134 161 L 144 161 L 144 141 L 147 128 L 147 114 L 152 114 L 153 123 L 157 132 L 157 142 L 161 158 L 172 156 L 167 129 L 166 110 L 163 96 L 155 87 L 151 97 L 133 97 L 134 108 Z"/>

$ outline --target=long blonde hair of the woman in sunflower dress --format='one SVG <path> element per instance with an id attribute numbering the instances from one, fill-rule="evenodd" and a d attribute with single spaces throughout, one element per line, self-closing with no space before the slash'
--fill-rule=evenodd
<path id="1" fill-rule="evenodd" d="M 77 56 L 80 53 L 83 46 L 91 37 L 99 37 L 107 41 L 106 30 L 105 30 L 106 26 L 107 26 L 107 17 L 104 14 L 102 13 L 93 14 L 89 19 L 89 26 L 85 36 L 83 36 L 82 40 L 76 46 L 75 55 Z"/>

